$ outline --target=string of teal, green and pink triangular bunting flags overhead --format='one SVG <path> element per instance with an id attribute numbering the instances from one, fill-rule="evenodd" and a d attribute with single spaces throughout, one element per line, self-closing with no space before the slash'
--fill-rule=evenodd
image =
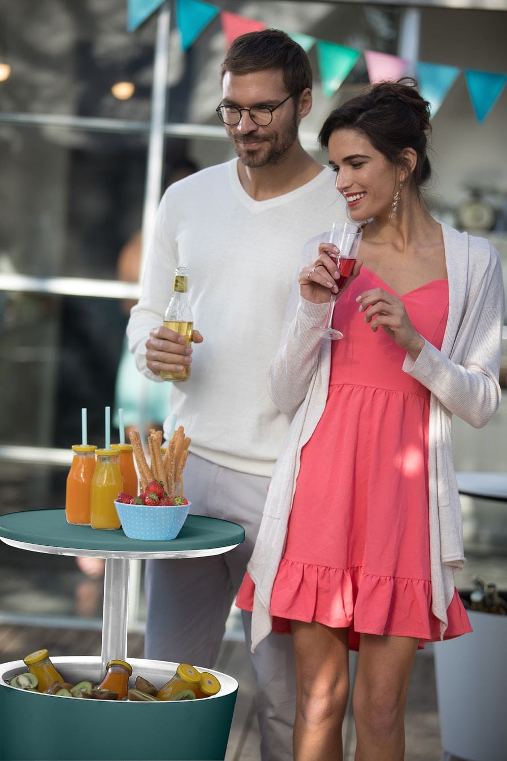
<path id="1" fill-rule="evenodd" d="M 160 8 L 162 3 L 163 0 L 127 0 L 128 30 L 137 29 L 154 11 L 157 11 L 157 8 Z M 209 2 L 176 0 L 176 24 L 181 36 L 182 49 L 188 50 L 217 15 L 220 15 L 227 47 L 240 34 L 266 29 L 266 24 L 262 21 L 245 18 L 229 11 L 220 11 L 220 8 Z M 410 62 L 389 53 L 360 50 L 327 40 L 318 40 L 309 34 L 285 31 L 306 52 L 315 46 L 322 92 L 325 97 L 334 96 L 361 55 L 364 55 L 371 83 L 382 80 L 396 81 L 409 72 L 414 73 L 420 94 L 430 103 L 432 117 L 442 106 L 445 97 L 462 71 L 464 71 L 468 94 L 479 123 L 486 119 L 507 83 L 507 74 L 478 72 L 473 69 L 463 70 L 457 66 L 424 61 Z"/>

